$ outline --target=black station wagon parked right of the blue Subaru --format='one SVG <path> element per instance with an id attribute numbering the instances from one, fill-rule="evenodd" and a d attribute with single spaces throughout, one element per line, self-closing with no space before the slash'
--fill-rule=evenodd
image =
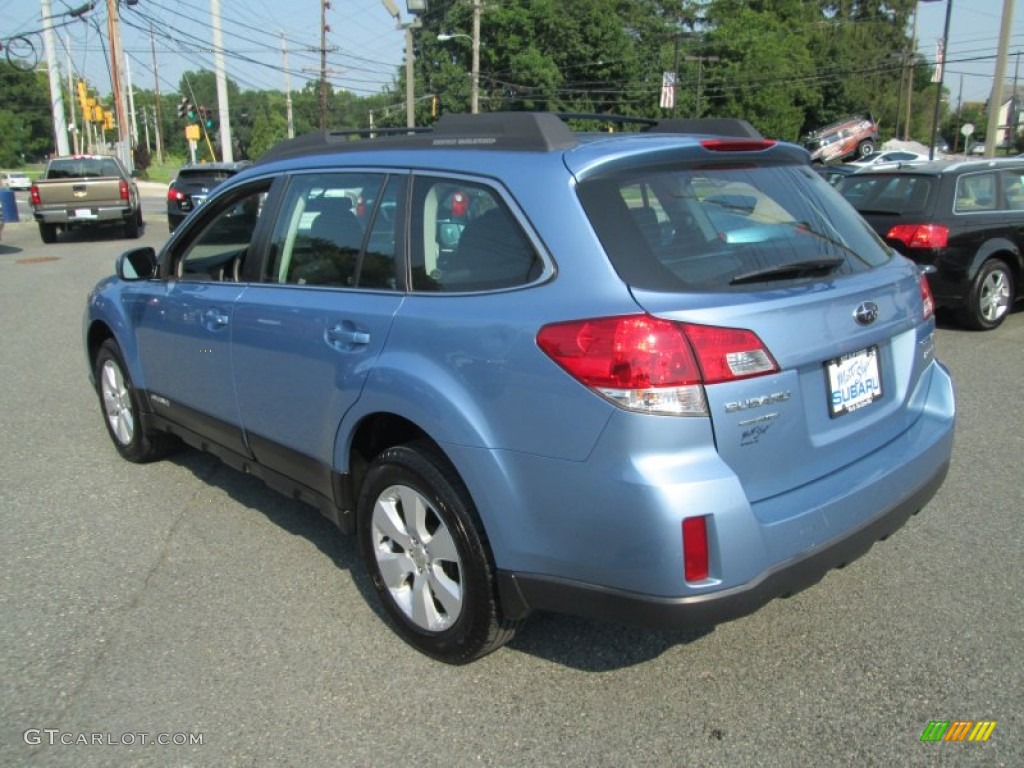
<path id="1" fill-rule="evenodd" d="M 965 326 L 1006 319 L 1024 267 L 1024 160 L 867 171 L 838 188 L 886 243 L 933 270 L 936 302 Z"/>

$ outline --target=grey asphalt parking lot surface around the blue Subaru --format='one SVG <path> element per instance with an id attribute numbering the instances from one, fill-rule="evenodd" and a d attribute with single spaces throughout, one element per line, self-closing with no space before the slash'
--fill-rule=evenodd
<path id="1" fill-rule="evenodd" d="M 197 453 L 118 457 L 81 317 L 131 245 L 0 241 L 0 765 L 1024 765 L 1024 311 L 942 324 L 949 477 L 860 560 L 713 630 L 536 615 L 451 668 L 312 510 Z M 996 726 L 923 742 L 931 721 Z"/>

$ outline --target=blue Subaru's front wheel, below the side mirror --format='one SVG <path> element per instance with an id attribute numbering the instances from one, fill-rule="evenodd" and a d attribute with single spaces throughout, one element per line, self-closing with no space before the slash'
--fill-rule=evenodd
<path id="1" fill-rule="evenodd" d="M 103 423 L 121 456 L 142 464 L 163 458 L 177 446 L 173 435 L 147 431 L 138 392 L 132 386 L 117 342 L 108 339 L 100 345 L 93 374 Z"/>

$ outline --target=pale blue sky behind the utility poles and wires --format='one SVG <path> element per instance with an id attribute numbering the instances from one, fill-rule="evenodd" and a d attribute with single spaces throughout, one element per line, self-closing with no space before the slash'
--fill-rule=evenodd
<path id="1" fill-rule="evenodd" d="M 502 2 L 502 0 L 492 0 Z M 60 15 L 87 0 L 50 0 L 54 24 L 58 27 L 58 54 L 61 68 L 68 54 L 72 69 L 84 75 L 100 93 L 110 92 L 108 57 L 96 27 L 106 29 L 106 0 L 97 0 L 86 14 L 92 23 Z M 397 0 L 406 13 L 404 0 Z M 984 101 L 992 87 L 995 52 L 998 45 L 1002 0 L 951 0 L 949 63 L 945 84 L 955 103 L 963 76 L 965 101 Z M 379 92 L 391 83 L 401 66 L 404 34 L 381 0 L 331 0 L 327 11 L 329 78 L 336 87 L 357 95 Z M 1016 6 L 1024 2 L 1015 0 Z M 305 81 L 315 80 L 319 69 L 319 0 L 220 0 L 227 74 L 243 90 L 285 89 L 282 35 L 288 47 L 288 75 L 297 90 Z M 945 2 L 919 3 L 919 52 L 934 60 L 936 41 L 942 37 Z M 162 93 L 174 92 L 182 72 L 213 69 L 209 0 L 138 0 L 128 6 L 121 0 L 122 37 L 128 69 L 134 85 L 152 89 L 157 80 L 151 50 L 151 27 L 156 47 L 157 70 Z M 0 43 L 5 45 L 27 35 L 41 52 L 42 43 L 34 33 L 41 29 L 41 0 L 0 0 Z M 483 16 L 486 24 L 486 14 Z M 468 32 L 468 30 L 452 30 Z M 17 41 L 15 41 L 16 43 Z M 16 49 L 16 45 L 11 46 Z M 1024 51 L 1024 10 L 1016 7 L 1011 25 L 1010 51 Z M 1012 82 L 1017 57 L 1011 55 L 1007 78 Z M 1024 85 L 1024 70 L 1021 71 Z"/>

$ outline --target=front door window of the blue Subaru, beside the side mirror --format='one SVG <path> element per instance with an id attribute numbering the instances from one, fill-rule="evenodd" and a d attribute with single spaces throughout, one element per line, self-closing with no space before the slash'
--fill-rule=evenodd
<path id="1" fill-rule="evenodd" d="M 240 189 L 218 201 L 217 211 L 171 265 L 180 280 L 238 281 L 263 215 L 269 182 Z M 196 231 L 193 227 L 191 231 Z"/>

